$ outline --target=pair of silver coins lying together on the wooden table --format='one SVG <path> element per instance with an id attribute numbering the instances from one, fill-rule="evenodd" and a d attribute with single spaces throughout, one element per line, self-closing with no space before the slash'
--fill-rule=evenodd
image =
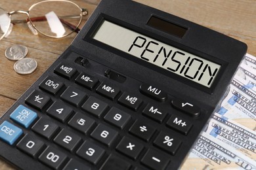
<path id="1" fill-rule="evenodd" d="M 33 58 L 25 58 L 28 54 L 28 48 L 22 45 L 10 46 L 5 50 L 5 57 L 16 61 L 14 71 L 21 75 L 28 75 L 37 68 L 37 61 Z"/>

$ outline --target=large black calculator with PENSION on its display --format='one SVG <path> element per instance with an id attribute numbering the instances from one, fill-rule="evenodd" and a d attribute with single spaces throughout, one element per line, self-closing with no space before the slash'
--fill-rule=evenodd
<path id="1" fill-rule="evenodd" d="M 179 169 L 246 44 L 129 0 L 102 0 L 0 120 L 19 169 Z"/>

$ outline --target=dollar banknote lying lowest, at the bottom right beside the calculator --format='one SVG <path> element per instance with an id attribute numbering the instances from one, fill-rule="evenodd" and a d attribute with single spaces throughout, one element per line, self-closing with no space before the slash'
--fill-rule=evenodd
<path id="1" fill-rule="evenodd" d="M 182 170 L 243 169 L 255 170 L 256 162 L 231 146 L 203 132 L 182 164 Z"/>

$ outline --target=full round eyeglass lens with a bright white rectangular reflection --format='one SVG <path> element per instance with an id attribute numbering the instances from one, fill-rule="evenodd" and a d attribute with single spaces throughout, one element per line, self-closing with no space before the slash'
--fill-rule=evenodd
<path id="1" fill-rule="evenodd" d="M 30 21 L 37 31 L 51 37 L 69 35 L 81 17 L 81 9 L 69 1 L 42 1 L 30 8 Z"/>

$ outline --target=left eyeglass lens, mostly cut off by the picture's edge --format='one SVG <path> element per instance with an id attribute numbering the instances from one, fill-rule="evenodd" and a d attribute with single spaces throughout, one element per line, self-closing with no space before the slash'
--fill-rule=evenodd
<path id="1" fill-rule="evenodd" d="M 9 14 L 0 8 L 0 39 L 3 38 L 5 33 L 7 33 L 9 26 L 11 23 L 11 19 L 9 17 Z"/>

